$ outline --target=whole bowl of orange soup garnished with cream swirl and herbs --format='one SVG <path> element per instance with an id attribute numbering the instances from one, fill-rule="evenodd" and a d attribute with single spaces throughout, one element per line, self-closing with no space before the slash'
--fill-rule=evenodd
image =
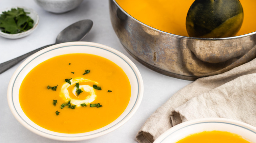
<path id="1" fill-rule="evenodd" d="M 93 42 L 67 42 L 27 58 L 8 86 L 14 117 L 37 135 L 77 141 L 114 131 L 141 103 L 143 81 L 121 52 Z"/>

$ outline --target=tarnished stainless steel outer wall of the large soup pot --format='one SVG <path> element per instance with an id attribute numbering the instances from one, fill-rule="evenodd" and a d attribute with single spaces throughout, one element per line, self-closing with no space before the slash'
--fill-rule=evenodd
<path id="1" fill-rule="evenodd" d="M 162 74 L 195 80 L 231 70 L 256 57 L 256 32 L 228 38 L 192 38 L 143 24 L 109 0 L 112 26 L 124 48 Z"/>

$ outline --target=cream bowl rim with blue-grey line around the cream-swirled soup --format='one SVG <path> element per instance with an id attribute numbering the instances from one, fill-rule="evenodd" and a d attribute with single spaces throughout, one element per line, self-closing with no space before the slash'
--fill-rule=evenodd
<path id="1" fill-rule="evenodd" d="M 91 132 L 64 134 L 44 129 L 35 124 L 24 114 L 19 103 L 20 85 L 25 76 L 35 66 L 49 58 L 71 53 L 93 54 L 113 61 L 123 69 L 131 84 L 131 98 L 125 111 L 112 123 Z M 143 89 L 143 81 L 138 68 L 121 52 L 98 43 L 67 42 L 50 46 L 28 57 L 13 73 L 7 90 L 7 99 L 14 117 L 33 133 L 55 140 L 77 141 L 105 135 L 127 122 L 139 108 L 143 96 Z"/>

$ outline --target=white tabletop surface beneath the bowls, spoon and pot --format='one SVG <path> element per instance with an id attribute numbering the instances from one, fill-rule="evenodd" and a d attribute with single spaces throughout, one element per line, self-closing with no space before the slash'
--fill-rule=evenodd
<path id="1" fill-rule="evenodd" d="M 96 42 L 117 49 L 136 64 L 142 75 L 144 95 L 134 116 L 123 126 L 109 134 L 86 141 L 77 141 L 79 143 L 136 143 L 135 136 L 146 119 L 175 92 L 192 83 L 192 81 L 181 80 L 152 71 L 130 56 L 122 47 L 112 28 L 108 0 L 84 0 L 78 8 L 63 14 L 47 12 L 33 0 L 0 0 L 0 10 L 13 6 L 25 6 L 37 11 L 40 18 L 39 25 L 31 35 L 21 39 L 11 40 L 0 37 L 0 63 L 30 52 L 33 49 L 52 44 L 55 42 L 58 33 L 66 26 L 79 20 L 91 19 L 94 22 L 93 28 L 83 41 Z M 12 115 L 7 103 L 7 87 L 13 72 L 19 64 L 0 74 L 0 142 L 62 142 L 32 133 Z"/>

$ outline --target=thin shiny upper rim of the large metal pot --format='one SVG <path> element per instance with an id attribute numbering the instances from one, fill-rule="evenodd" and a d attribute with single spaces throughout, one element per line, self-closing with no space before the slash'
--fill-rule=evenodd
<path id="1" fill-rule="evenodd" d="M 139 24 L 144 25 L 144 26 L 146 26 L 146 27 L 148 27 L 148 28 L 150 28 L 150 29 L 153 29 L 153 30 L 155 30 L 155 31 L 157 31 L 157 32 L 160 32 L 160 33 L 163 33 L 163 34 L 166 34 L 166 35 L 171 35 L 171 36 L 174 36 L 174 37 L 179 37 L 179 38 L 184 38 L 184 39 L 193 39 L 193 40 L 228 40 L 228 39 L 243 38 L 243 37 L 246 37 L 246 36 L 251 36 L 251 35 L 256 34 L 256 31 L 254 31 L 254 32 L 247 33 L 247 34 L 244 34 L 244 35 L 238 35 L 238 36 L 233 36 L 233 37 L 224 37 L 224 38 L 197 38 L 197 37 L 187 37 L 187 36 L 176 35 L 176 34 L 172 34 L 172 33 L 168 33 L 168 32 L 164 32 L 164 31 L 158 30 L 158 29 L 156 29 L 156 28 L 154 28 L 154 27 L 151 27 L 151 26 L 149 26 L 149 25 L 147 25 L 147 24 L 144 24 L 144 23 L 140 22 L 139 20 L 135 19 L 135 18 L 132 17 L 130 14 L 128 14 L 123 8 L 121 8 L 121 7 L 117 4 L 116 0 L 112 0 L 112 1 L 116 4 L 116 6 L 117 6 L 123 13 L 125 13 L 125 14 L 126 14 L 128 17 L 130 17 L 132 20 L 134 20 L 134 21 L 138 22 Z"/>

